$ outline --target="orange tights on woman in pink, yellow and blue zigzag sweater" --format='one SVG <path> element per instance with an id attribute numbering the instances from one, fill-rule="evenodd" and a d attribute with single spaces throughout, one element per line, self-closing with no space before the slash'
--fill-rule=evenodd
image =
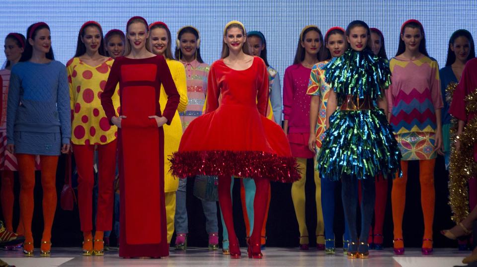
<path id="1" fill-rule="evenodd" d="M 421 184 L 421 206 L 424 216 L 424 239 L 432 239 L 432 223 L 436 192 L 434 188 L 434 165 L 436 159 L 419 160 L 419 182 Z M 394 239 L 402 239 L 402 217 L 406 204 L 408 161 L 401 161 L 402 177 L 393 181 L 391 201 L 393 204 Z M 395 243 L 396 245 L 396 243 Z M 397 245 L 397 247 L 401 247 Z M 432 248 L 432 242 L 423 243 L 425 248 Z"/>

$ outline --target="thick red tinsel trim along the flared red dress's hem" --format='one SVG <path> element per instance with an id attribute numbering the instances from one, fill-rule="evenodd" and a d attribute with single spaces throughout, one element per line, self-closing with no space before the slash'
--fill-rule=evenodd
<path id="1" fill-rule="evenodd" d="M 236 176 L 290 183 L 300 180 L 293 157 L 261 151 L 181 151 L 169 158 L 170 172 L 180 178 L 196 175 Z"/>

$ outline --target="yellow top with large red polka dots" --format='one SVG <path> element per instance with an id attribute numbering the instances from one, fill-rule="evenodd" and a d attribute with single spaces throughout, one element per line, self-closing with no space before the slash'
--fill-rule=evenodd
<path id="1" fill-rule="evenodd" d="M 79 58 L 73 58 L 66 65 L 72 110 L 71 141 L 74 144 L 107 144 L 118 135 L 117 127 L 109 124 L 100 99 L 113 62 L 109 58 L 98 66 L 89 66 Z M 118 115 L 118 89 L 112 100 Z"/>

